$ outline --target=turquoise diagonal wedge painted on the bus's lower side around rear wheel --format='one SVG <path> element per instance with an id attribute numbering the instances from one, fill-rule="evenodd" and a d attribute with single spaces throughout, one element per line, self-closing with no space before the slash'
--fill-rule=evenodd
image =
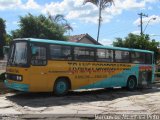
<path id="1" fill-rule="evenodd" d="M 107 88 L 107 87 L 125 87 L 127 85 L 127 79 L 130 75 L 135 75 L 138 80 L 139 65 L 131 68 L 131 70 L 124 70 L 123 72 L 116 74 L 112 77 L 103 79 L 93 84 L 82 86 L 79 89 L 90 89 L 90 88 Z M 137 81 L 138 82 L 138 81 Z"/>

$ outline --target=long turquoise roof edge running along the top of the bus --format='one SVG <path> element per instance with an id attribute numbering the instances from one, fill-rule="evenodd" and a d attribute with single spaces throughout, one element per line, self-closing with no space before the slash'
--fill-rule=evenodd
<path id="1" fill-rule="evenodd" d="M 93 47 L 93 48 L 106 48 L 106 49 L 113 49 L 113 50 L 124 50 L 124 51 L 135 51 L 135 52 L 145 52 L 145 53 L 154 53 L 153 51 L 149 50 L 142 50 L 142 49 L 133 49 L 133 48 L 122 48 L 122 47 L 113 47 L 113 46 L 103 46 L 103 45 L 93 45 L 93 44 L 86 44 L 86 43 L 76 43 L 76 42 L 68 42 L 68 41 L 60 41 L 60 40 L 49 40 L 49 39 L 36 39 L 36 38 L 17 38 L 14 40 L 26 40 L 31 42 L 40 42 L 40 43 L 53 43 L 59 45 L 71 45 L 71 46 L 81 46 L 81 47 Z"/>

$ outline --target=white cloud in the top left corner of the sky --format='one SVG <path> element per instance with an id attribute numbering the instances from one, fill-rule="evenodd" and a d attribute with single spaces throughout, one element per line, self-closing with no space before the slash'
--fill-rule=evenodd
<path id="1" fill-rule="evenodd" d="M 22 3 L 21 0 L 0 0 L 0 10 L 39 8 L 40 5 L 38 5 L 34 0 L 28 0 L 26 3 Z"/>

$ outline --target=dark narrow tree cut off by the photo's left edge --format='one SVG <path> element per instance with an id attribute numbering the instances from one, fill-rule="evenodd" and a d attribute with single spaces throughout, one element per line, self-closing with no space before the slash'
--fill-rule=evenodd
<path id="1" fill-rule="evenodd" d="M 0 18 L 0 59 L 4 57 L 3 46 L 5 45 L 5 36 L 6 36 L 5 28 L 6 28 L 5 20 Z"/>

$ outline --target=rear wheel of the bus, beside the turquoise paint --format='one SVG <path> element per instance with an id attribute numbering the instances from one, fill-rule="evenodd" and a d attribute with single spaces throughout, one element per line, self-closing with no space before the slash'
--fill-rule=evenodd
<path id="1" fill-rule="evenodd" d="M 137 88 L 137 80 L 136 80 L 136 77 L 134 76 L 131 76 L 128 78 L 127 80 L 127 89 L 129 91 L 133 91 Z"/>

